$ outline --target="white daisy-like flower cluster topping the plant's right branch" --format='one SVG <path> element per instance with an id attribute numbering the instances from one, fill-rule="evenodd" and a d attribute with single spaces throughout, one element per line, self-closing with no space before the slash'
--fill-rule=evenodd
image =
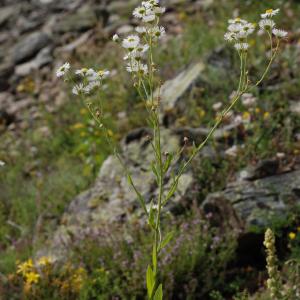
<path id="1" fill-rule="evenodd" d="M 282 29 L 275 28 L 276 24 L 272 19 L 273 16 L 279 13 L 279 9 L 269 9 L 264 14 L 261 14 L 261 20 L 259 21 L 259 34 L 267 32 L 270 35 L 273 33 L 277 38 L 284 38 L 287 36 L 287 32 Z M 234 43 L 234 48 L 238 52 L 246 52 L 249 49 L 248 37 L 255 31 L 255 24 L 248 21 L 236 18 L 228 21 L 229 25 L 227 32 L 224 35 L 224 39 Z"/>

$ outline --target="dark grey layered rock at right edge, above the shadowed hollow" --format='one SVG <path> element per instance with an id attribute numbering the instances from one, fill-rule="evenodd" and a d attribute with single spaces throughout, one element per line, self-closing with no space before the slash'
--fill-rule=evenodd
<path id="1" fill-rule="evenodd" d="M 254 181 L 238 181 L 207 196 L 203 208 L 214 220 L 247 232 L 284 219 L 300 205 L 300 170 Z"/>

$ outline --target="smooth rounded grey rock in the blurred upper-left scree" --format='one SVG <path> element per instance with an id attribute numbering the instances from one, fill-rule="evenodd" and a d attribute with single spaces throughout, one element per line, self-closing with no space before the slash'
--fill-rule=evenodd
<path id="1" fill-rule="evenodd" d="M 13 60 L 16 64 L 25 62 L 49 44 L 50 38 L 46 33 L 40 31 L 31 33 L 15 45 Z"/>

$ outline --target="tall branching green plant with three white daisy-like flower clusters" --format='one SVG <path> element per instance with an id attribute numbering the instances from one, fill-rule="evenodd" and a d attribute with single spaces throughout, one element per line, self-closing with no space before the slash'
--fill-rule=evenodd
<path id="1" fill-rule="evenodd" d="M 258 86 L 267 75 L 274 58 L 279 49 L 282 38 L 287 36 L 287 32 L 277 29 L 273 17 L 278 14 L 279 9 L 267 10 L 261 14 L 259 21 L 258 33 L 266 34 L 270 43 L 270 58 L 265 71 L 261 77 L 252 82 L 248 72 L 248 53 L 250 45 L 248 38 L 256 31 L 256 25 L 241 18 L 230 19 L 228 22 L 228 31 L 225 33 L 225 40 L 232 43 L 240 58 L 240 77 L 237 91 L 228 106 L 220 113 L 214 126 L 209 131 L 207 137 L 199 144 L 193 145 L 190 157 L 184 160 L 180 167 L 178 165 L 179 157 L 186 145 L 187 139 L 184 139 L 184 146 L 178 149 L 176 153 L 164 153 L 161 142 L 161 125 L 160 125 L 160 81 L 158 79 L 158 66 L 154 58 L 154 48 L 159 44 L 160 39 L 165 36 L 165 28 L 160 26 L 160 18 L 165 13 L 165 8 L 159 5 L 159 0 L 147 0 L 141 2 L 141 5 L 134 9 L 133 16 L 140 21 L 140 26 L 135 28 L 135 32 L 121 39 L 118 35 L 113 36 L 113 40 L 118 42 L 125 50 L 124 61 L 126 62 L 126 70 L 130 73 L 133 86 L 136 88 L 141 100 L 148 112 L 148 123 L 152 128 L 152 137 L 150 143 L 152 146 L 154 160 L 151 163 L 151 170 L 156 179 L 158 186 L 158 195 L 156 199 L 152 199 L 150 207 L 147 205 L 144 196 L 138 191 L 129 170 L 124 165 L 121 156 L 115 150 L 115 155 L 126 171 L 128 182 L 136 193 L 137 199 L 148 219 L 148 224 L 152 231 L 152 253 L 151 262 L 149 262 L 146 271 L 146 286 L 148 299 L 163 299 L 163 286 L 160 282 L 159 262 L 162 249 L 172 239 L 172 232 L 163 233 L 161 230 L 161 218 L 163 208 L 172 198 L 177 190 L 179 180 L 185 170 L 189 167 L 195 156 L 209 141 L 217 127 L 220 125 L 226 115 L 232 110 L 241 96 Z M 93 69 L 81 69 L 75 71 L 75 75 L 79 76 L 80 83 L 76 83 L 73 87 L 73 93 L 79 95 L 86 103 L 91 116 L 98 122 L 99 126 L 107 132 L 107 128 L 102 122 L 101 101 L 99 105 L 93 104 L 86 100 L 87 95 L 99 92 L 101 90 L 103 80 L 109 76 L 109 71 Z M 64 64 L 57 70 L 58 77 L 64 77 L 66 80 L 73 80 L 70 75 L 70 65 Z M 109 139 L 109 135 L 106 135 Z M 166 175 L 172 174 L 172 182 L 169 187 L 164 185 Z"/>

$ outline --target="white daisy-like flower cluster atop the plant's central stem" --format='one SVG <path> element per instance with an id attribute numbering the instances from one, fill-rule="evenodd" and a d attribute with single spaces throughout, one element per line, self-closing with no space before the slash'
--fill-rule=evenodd
<path id="1" fill-rule="evenodd" d="M 143 58 L 152 46 L 165 35 L 165 28 L 159 26 L 159 18 L 165 12 L 164 7 L 159 6 L 158 0 L 143 1 L 134 9 L 133 16 L 139 19 L 143 26 L 135 28 L 135 33 L 122 41 L 122 47 L 126 50 L 124 60 L 127 62 L 126 70 L 134 75 L 146 75 L 149 72 L 149 64 L 143 62 Z M 119 41 L 118 35 L 113 36 L 114 41 Z"/>

